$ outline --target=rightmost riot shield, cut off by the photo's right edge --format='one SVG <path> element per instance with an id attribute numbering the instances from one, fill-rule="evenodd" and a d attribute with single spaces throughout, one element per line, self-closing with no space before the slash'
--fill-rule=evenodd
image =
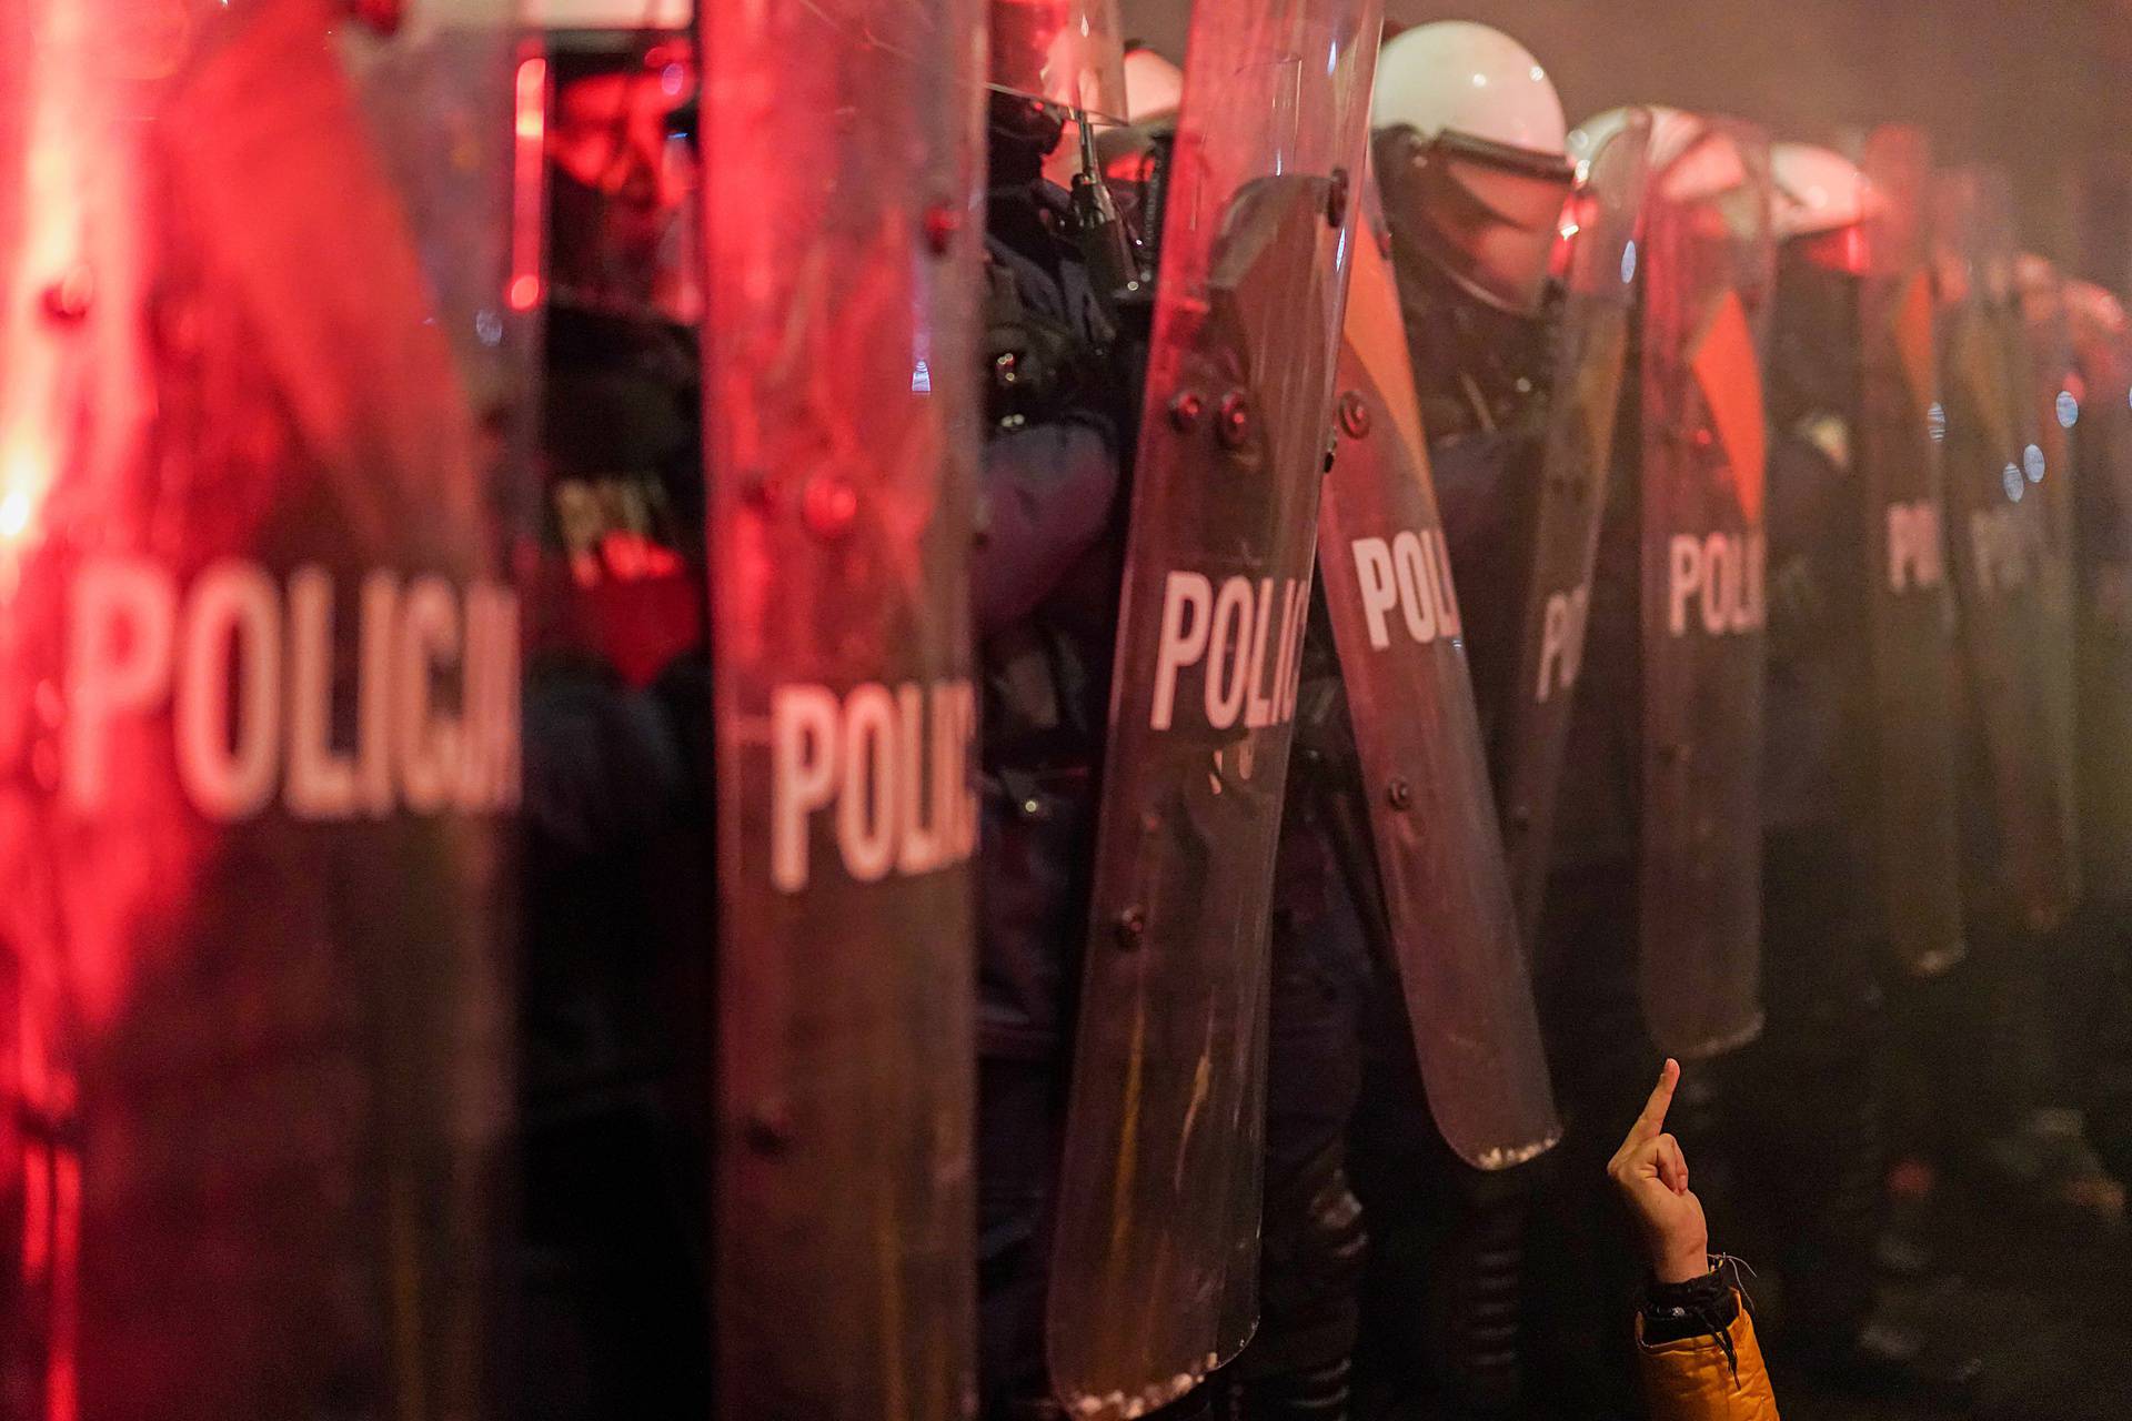
<path id="1" fill-rule="evenodd" d="M 2070 294 L 2079 398 L 2072 458 L 2079 503 L 2081 880 L 2104 903 L 2132 897 L 2132 326 L 2102 288 Z"/>

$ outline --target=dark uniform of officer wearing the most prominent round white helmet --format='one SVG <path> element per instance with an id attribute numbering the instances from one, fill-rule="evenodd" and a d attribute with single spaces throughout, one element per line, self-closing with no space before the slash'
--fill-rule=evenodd
<path id="1" fill-rule="evenodd" d="M 1501 773 L 1495 737 L 1507 720 L 1520 654 L 1550 322 L 1503 313 L 1445 275 L 1428 234 L 1414 230 L 1414 202 L 1401 192 L 1414 143 L 1411 130 L 1377 134 L 1377 173 L 1473 692 Z M 1533 944 L 1563 1146 L 1539 1165 L 1501 1174 L 1458 1161 L 1428 1118 L 1396 986 L 1379 991 L 1371 1012 L 1373 1046 L 1354 1131 L 1356 1189 L 1373 1236 L 1364 1368 L 1373 1387 L 1394 1395 L 1420 1387 L 1463 1412 L 1514 1410 L 1529 1346 L 1584 1355 L 1599 1334 L 1618 1332 L 1627 1306 L 1610 1314 L 1580 1265 L 1595 1257 L 1595 1240 L 1618 1236 L 1601 1212 L 1601 1167 L 1657 1065 L 1646 1061 L 1648 1050 L 1622 1050 L 1622 1042 L 1642 1042 L 1631 910 L 1640 665 L 1633 499 L 1608 518 L 1584 654 L 1584 677 L 1599 684 L 1578 695 L 1554 884 Z M 1629 1116 L 1616 1127 L 1618 1110 L 1608 1106 L 1622 1101 Z M 1541 1191 L 1550 1204 L 1535 1219 L 1544 1178 L 1558 1178 L 1561 1189 Z M 1548 1278 L 1527 1274 L 1535 1227 L 1544 1240 L 1537 1246 L 1548 1248 Z M 1620 1287 L 1633 1287 L 1627 1248 L 1618 1263 Z M 1527 1314 L 1529 1287 L 1556 1304 L 1546 1327 L 1539 1314 Z M 1627 1378 L 1627 1366 L 1620 1374 Z"/>

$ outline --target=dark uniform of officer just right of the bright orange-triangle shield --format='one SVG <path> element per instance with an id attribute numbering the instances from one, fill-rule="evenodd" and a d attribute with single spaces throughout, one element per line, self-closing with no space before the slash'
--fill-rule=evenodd
<path id="1" fill-rule="evenodd" d="M 1791 1340 L 1812 1349 L 1866 1325 L 1887 1167 L 1855 332 L 1857 281 L 1787 251 L 1770 356 L 1767 1027 L 1738 1061 L 1733 1123 L 1744 1214 L 1767 1225 Z"/>

